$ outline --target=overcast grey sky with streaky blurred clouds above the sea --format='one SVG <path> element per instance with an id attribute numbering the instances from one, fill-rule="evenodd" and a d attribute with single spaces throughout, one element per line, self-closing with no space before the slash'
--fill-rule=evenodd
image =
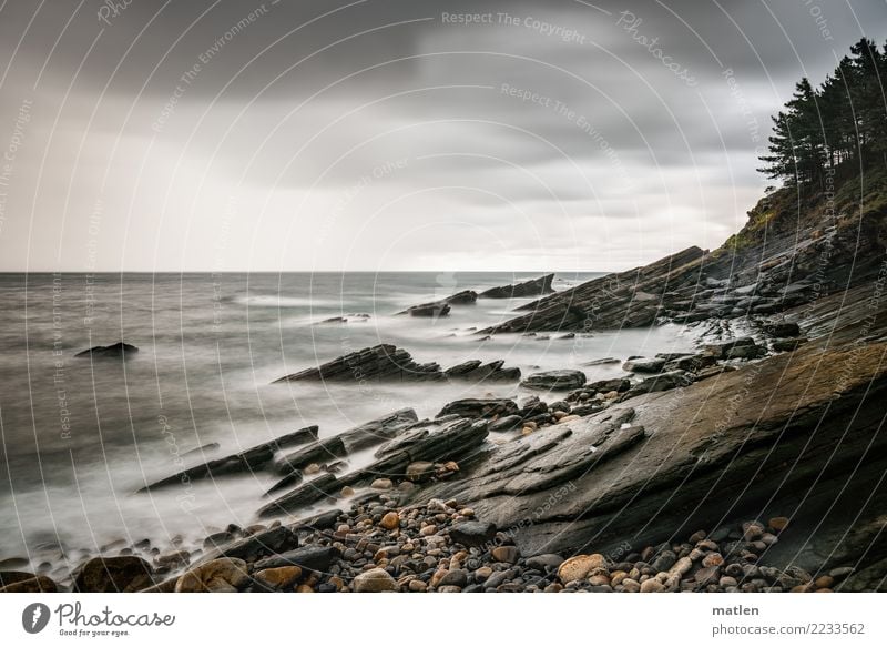
<path id="1" fill-rule="evenodd" d="M 718 246 L 887 2 L 7 0 L 0 271 L 614 271 Z"/>

